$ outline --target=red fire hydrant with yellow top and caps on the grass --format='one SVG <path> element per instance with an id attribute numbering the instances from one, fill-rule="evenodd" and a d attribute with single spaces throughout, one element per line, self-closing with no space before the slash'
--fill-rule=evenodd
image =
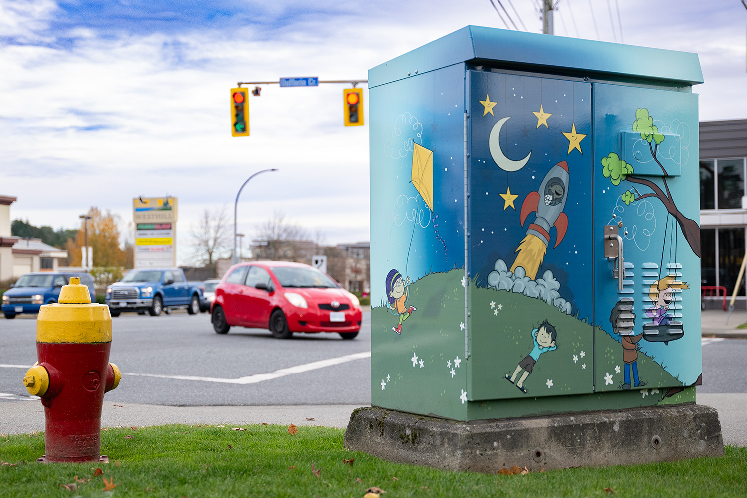
<path id="1" fill-rule="evenodd" d="M 46 454 L 39 461 L 108 461 L 100 455 L 101 410 L 104 393 L 121 378 L 109 363 L 109 308 L 91 304 L 88 287 L 75 277 L 58 301 L 39 311 L 39 361 L 23 378 L 44 406 Z"/>

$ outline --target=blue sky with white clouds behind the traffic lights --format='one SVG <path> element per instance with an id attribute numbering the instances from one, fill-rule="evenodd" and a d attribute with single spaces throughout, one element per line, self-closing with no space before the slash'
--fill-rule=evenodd
<path id="1" fill-rule="evenodd" d="M 252 237 L 280 210 L 327 243 L 368 240 L 368 126 L 342 126 L 347 85 L 262 85 L 246 138 L 231 137 L 229 89 L 365 79 L 465 25 L 540 33 L 538 4 L 0 0 L 0 194 L 34 225 L 75 228 L 93 205 L 120 215 L 123 231 L 133 197 L 176 196 L 182 263 L 205 208 L 232 220 L 244 180 L 278 168 L 244 188 L 239 232 Z M 554 21 L 559 36 L 696 52 L 700 119 L 747 117 L 739 0 L 560 0 Z"/>

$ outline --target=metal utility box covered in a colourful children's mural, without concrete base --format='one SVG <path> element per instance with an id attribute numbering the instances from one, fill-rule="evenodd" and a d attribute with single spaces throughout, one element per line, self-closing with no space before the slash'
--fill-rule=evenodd
<path id="1" fill-rule="evenodd" d="M 693 402 L 698 57 L 468 26 L 369 71 L 372 405 Z"/>

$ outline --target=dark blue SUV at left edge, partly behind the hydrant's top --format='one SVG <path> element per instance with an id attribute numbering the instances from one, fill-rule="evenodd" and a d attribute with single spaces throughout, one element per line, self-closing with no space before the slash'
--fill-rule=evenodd
<path id="1" fill-rule="evenodd" d="M 96 302 L 93 280 L 87 273 L 26 273 L 2 295 L 5 318 L 15 318 L 22 313 L 39 313 L 41 305 L 57 302 L 62 286 L 70 283 L 70 277 L 80 278 L 81 284 L 88 287 L 91 302 Z"/>

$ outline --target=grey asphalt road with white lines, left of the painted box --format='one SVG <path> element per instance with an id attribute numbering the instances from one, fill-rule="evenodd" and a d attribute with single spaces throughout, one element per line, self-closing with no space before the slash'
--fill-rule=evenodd
<path id="1" fill-rule="evenodd" d="M 28 399 L 20 382 L 37 360 L 36 320 L 0 322 L 0 402 Z M 110 361 L 123 373 L 107 402 L 145 405 L 371 403 L 370 314 L 358 337 L 272 337 L 266 329 L 213 332 L 208 314 L 125 313 L 112 319 Z M 338 362 L 335 364 L 335 362 Z M 16 366 L 17 365 L 17 366 Z M 285 369 L 285 370 L 284 370 Z"/>

